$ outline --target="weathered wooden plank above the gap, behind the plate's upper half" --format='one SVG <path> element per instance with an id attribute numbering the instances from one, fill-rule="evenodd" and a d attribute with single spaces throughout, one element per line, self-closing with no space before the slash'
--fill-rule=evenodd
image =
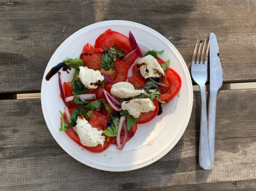
<path id="1" fill-rule="evenodd" d="M 145 2 L 0 1 L 0 93 L 40 92 L 44 69 L 55 49 L 78 29 L 113 19 L 138 22 L 160 32 L 189 68 L 196 39 L 214 32 L 224 83 L 256 81 L 256 1 Z"/>

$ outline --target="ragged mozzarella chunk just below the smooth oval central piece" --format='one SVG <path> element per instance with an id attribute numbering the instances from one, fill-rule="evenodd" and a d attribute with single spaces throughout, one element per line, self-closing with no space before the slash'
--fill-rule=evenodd
<path id="1" fill-rule="evenodd" d="M 154 111 L 155 106 L 149 98 L 136 98 L 129 101 L 124 101 L 121 104 L 122 110 L 127 110 L 128 113 L 135 118 L 140 117 L 140 113 Z"/>

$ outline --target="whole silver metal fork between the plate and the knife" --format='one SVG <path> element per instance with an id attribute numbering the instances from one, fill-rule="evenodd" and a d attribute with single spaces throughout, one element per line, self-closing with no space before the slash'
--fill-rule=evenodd
<path id="1" fill-rule="evenodd" d="M 198 84 L 201 93 L 201 122 L 200 122 L 200 139 L 199 139 L 199 165 L 203 169 L 209 169 L 211 167 L 209 139 L 207 129 L 207 109 L 206 109 L 206 95 L 205 95 L 205 83 L 207 79 L 207 63 L 209 55 L 208 41 L 207 48 L 205 50 L 206 39 L 204 41 L 202 50 L 202 39 L 199 43 L 199 48 L 196 56 L 196 50 L 198 46 L 198 39 L 196 41 L 192 59 L 191 59 L 191 75 L 194 81 Z M 202 51 L 202 52 L 201 52 Z M 201 56 L 200 56 L 201 52 Z M 205 55 L 205 57 L 203 57 Z M 200 57 L 200 60 L 199 60 Z M 204 60 L 203 60 L 204 58 Z"/>

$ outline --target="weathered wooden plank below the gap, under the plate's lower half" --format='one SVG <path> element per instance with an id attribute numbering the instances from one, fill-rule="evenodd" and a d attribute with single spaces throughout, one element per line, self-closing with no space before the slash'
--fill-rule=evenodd
<path id="1" fill-rule="evenodd" d="M 219 92 L 213 170 L 198 164 L 200 95 L 195 92 L 190 122 L 178 144 L 147 167 L 116 173 L 93 169 L 65 153 L 46 127 L 39 99 L 0 100 L 0 190 L 171 190 L 189 184 L 199 184 L 194 185 L 198 190 L 213 185 L 232 190 L 218 182 L 256 179 L 255 96 L 256 90 Z"/>

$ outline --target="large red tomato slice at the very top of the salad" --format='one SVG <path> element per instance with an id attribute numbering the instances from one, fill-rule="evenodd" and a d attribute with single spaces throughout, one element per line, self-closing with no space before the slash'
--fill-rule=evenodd
<path id="1" fill-rule="evenodd" d="M 131 52 L 132 47 L 129 38 L 120 32 L 107 29 L 95 41 L 94 48 L 109 49 L 115 46 L 116 49 L 124 51 L 124 54 Z"/>

